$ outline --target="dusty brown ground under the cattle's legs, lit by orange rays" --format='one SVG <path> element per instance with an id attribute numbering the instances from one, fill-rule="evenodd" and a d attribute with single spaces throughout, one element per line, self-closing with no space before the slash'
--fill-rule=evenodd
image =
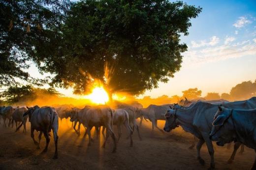
<path id="1" fill-rule="evenodd" d="M 112 151 L 112 140 L 109 139 L 106 148 L 102 149 L 102 136 L 92 146 L 87 146 L 88 137 L 78 137 L 70 123 L 65 120 L 60 123 L 59 130 L 59 159 L 53 160 L 54 142 L 51 137 L 48 152 L 41 154 L 45 146 L 42 137 L 41 149 L 37 150 L 30 137 L 30 123 L 27 123 L 27 134 L 14 133 L 14 128 L 3 128 L 0 124 L 0 170 L 18 169 L 168 169 L 168 170 L 205 170 L 209 167 L 210 157 L 206 146 L 201 149 L 201 156 L 205 160 L 205 166 L 201 166 L 196 160 L 196 149 L 188 149 L 192 141 L 192 135 L 181 129 L 175 129 L 171 133 L 155 130 L 151 134 L 151 125 L 143 121 L 141 127 L 142 141 L 139 141 L 137 132 L 133 134 L 133 147 L 129 147 L 126 139 L 126 129 L 123 128 L 123 136 L 118 144 L 116 153 Z M 162 127 L 163 124 L 159 123 Z M 117 129 L 115 128 L 115 132 Z M 82 134 L 84 128 L 82 128 Z M 36 139 L 38 133 L 35 133 Z M 237 154 L 233 164 L 227 164 L 232 149 L 216 147 L 216 170 L 249 170 L 253 164 L 255 153 L 252 149 L 245 148 L 244 154 Z"/>

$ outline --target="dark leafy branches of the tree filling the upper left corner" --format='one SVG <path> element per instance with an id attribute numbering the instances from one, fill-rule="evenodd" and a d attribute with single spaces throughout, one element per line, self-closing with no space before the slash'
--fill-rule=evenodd
<path id="1" fill-rule="evenodd" d="M 36 83 L 26 61 L 37 39 L 56 39 L 68 5 L 68 0 L 0 0 L 0 87 L 19 84 L 15 78 Z M 48 50 L 41 49 L 45 55 Z"/>

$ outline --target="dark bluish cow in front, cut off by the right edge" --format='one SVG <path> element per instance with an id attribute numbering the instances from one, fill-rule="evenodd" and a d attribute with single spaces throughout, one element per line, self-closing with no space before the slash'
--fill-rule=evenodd
<path id="1" fill-rule="evenodd" d="M 240 142 L 256 152 L 256 109 L 237 110 L 219 106 L 210 133 L 210 139 L 218 146 L 232 141 Z M 251 168 L 256 170 L 256 159 Z"/>

